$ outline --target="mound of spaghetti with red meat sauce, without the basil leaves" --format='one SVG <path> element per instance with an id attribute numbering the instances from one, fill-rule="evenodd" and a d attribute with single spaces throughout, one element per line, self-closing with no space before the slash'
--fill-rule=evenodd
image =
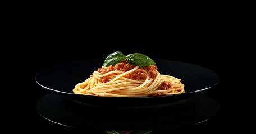
<path id="1" fill-rule="evenodd" d="M 185 93 L 181 79 L 163 75 L 156 65 L 139 66 L 126 59 L 110 66 L 102 66 L 86 79 L 77 83 L 75 94 L 106 97 L 138 97 Z"/>

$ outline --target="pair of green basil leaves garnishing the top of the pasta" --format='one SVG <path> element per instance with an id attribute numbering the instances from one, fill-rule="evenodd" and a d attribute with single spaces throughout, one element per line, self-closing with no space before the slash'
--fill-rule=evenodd
<path id="1" fill-rule="evenodd" d="M 134 53 L 125 56 L 122 54 L 122 52 L 116 51 L 107 56 L 103 66 L 115 65 L 124 59 L 126 59 L 128 63 L 138 66 L 156 65 L 156 63 L 151 58 L 144 54 Z"/>

